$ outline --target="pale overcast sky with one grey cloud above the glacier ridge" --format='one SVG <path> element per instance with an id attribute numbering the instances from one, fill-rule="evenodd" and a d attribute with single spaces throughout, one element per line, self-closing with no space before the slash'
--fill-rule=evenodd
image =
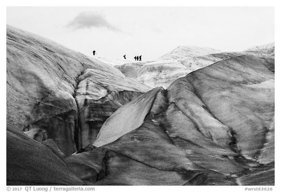
<path id="1" fill-rule="evenodd" d="M 177 46 L 221 51 L 274 42 L 274 7 L 7 7 L 8 25 L 85 55 L 142 61 Z"/>

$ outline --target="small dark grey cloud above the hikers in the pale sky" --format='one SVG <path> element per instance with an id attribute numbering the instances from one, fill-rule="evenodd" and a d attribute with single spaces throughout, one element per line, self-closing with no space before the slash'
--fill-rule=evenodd
<path id="1" fill-rule="evenodd" d="M 112 31 L 120 31 L 117 27 L 110 24 L 106 19 L 96 13 L 82 12 L 76 16 L 72 21 L 67 25 L 69 28 L 82 29 L 82 28 L 91 28 L 91 27 L 106 27 Z"/>

